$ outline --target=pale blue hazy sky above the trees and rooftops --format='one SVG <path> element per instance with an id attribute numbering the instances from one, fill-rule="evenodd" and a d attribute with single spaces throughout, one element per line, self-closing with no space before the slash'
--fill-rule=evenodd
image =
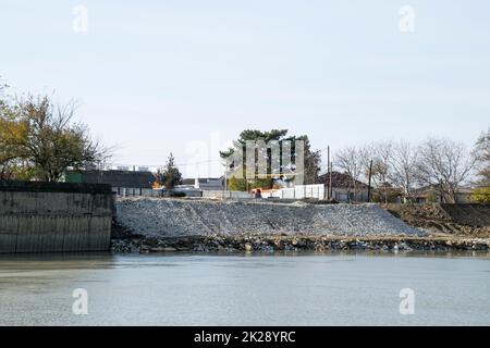
<path id="1" fill-rule="evenodd" d="M 0 78 L 75 101 L 114 164 L 172 151 L 186 177 L 219 176 L 246 128 L 333 153 L 470 147 L 490 127 L 489 14 L 488 0 L 0 0 Z"/>

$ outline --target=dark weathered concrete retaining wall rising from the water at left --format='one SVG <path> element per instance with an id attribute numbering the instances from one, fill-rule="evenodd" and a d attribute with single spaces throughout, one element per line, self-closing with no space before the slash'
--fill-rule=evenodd
<path id="1" fill-rule="evenodd" d="M 108 250 L 109 185 L 0 182 L 0 253 Z"/>

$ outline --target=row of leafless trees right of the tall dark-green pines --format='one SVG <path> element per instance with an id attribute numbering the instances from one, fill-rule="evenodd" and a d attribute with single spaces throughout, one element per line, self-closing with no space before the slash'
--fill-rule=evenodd
<path id="1" fill-rule="evenodd" d="M 351 146 L 335 152 L 334 167 L 357 181 L 368 182 L 378 200 L 390 196 L 413 201 L 415 190 L 432 188 L 444 202 L 456 202 L 464 185 L 477 186 L 476 201 L 490 201 L 490 129 L 481 133 L 473 149 L 449 138 L 427 138 L 420 144 L 382 140 Z"/>

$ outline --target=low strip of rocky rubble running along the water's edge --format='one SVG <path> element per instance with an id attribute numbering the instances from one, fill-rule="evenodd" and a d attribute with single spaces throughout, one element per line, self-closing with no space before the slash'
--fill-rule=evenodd
<path id="1" fill-rule="evenodd" d="M 311 235 L 233 235 L 192 237 L 132 236 L 113 239 L 111 251 L 126 252 L 274 252 L 274 251 L 488 251 L 490 239 L 454 236 L 340 237 Z"/>

